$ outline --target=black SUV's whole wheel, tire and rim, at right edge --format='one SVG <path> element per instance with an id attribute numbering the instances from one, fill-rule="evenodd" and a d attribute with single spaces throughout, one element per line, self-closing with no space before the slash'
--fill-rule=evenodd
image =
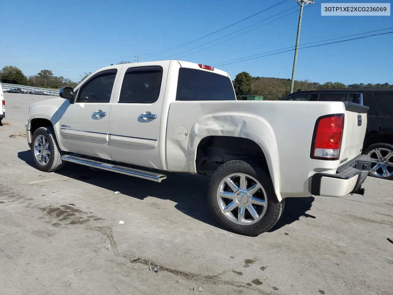
<path id="1" fill-rule="evenodd" d="M 371 144 L 363 153 L 373 160 L 369 176 L 393 180 L 393 145 L 384 142 Z"/>

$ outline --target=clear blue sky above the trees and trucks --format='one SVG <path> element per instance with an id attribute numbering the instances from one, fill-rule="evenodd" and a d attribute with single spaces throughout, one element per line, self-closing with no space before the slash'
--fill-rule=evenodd
<path id="1" fill-rule="evenodd" d="M 314 7 L 304 9 L 300 44 L 393 27 L 392 15 L 321 16 L 321 6 L 318 4 L 323 1 L 325 0 L 315 0 L 312 5 Z M 177 50 L 167 53 L 163 51 L 160 55 L 150 54 L 219 30 L 278 2 L 280 1 L 3 1 L 0 17 L 0 68 L 15 65 L 26 76 L 48 69 L 56 76 L 77 80 L 83 72 L 121 60 L 133 61 L 136 55 L 140 55 L 140 61 L 182 59 L 214 65 L 294 46 L 299 7 L 290 9 L 297 4 L 294 0 L 288 0 Z M 382 1 L 332 0 L 329 3 L 380 2 Z M 290 10 L 260 22 L 287 9 Z M 283 17 L 288 13 L 291 14 Z M 244 33 L 279 17 L 283 18 Z M 214 41 L 256 22 L 260 23 Z M 393 30 L 381 32 L 387 31 Z M 201 50 L 241 33 L 244 34 Z M 361 36 L 364 35 L 359 35 Z M 213 42 L 200 46 L 210 41 Z M 196 46 L 200 47 L 189 50 Z M 387 34 L 299 50 L 295 78 L 320 83 L 340 81 L 345 84 L 392 84 L 392 48 L 393 34 Z M 181 53 L 185 50 L 188 51 Z M 201 51 L 196 52 L 198 50 Z M 186 54 L 189 55 L 184 56 Z M 293 57 L 292 51 L 219 68 L 229 72 L 233 79 L 242 71 L 249 72 L 252 76 L 290 78 Z"/>

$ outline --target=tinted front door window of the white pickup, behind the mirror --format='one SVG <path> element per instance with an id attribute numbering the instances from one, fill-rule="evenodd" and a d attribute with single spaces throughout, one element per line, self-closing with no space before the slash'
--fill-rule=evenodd
<path id="1" fill-rule="evenodd" d="M 78 91 L 77 102 L 109 102 L 117 70 L 93 76 Z"/>

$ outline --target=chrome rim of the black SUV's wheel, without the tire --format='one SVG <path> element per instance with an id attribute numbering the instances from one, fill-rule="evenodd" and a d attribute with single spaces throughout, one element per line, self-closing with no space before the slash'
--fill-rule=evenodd
<path id="1" fill-rule="evenodd" d="M 367 155 L 371 157 L 372 163 L 370 173 L 378 177 L 393 176 L 393 151 L 385 147 L 377 147 Z"/>

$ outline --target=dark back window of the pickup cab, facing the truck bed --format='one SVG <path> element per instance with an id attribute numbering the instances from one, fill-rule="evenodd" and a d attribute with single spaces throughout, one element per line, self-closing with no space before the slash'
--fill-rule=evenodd
<path id="1" fill-rule="evenodd" d="M 180 68 L 176 100 L 236 100 L 229 77 L 204 70 Z"/>

